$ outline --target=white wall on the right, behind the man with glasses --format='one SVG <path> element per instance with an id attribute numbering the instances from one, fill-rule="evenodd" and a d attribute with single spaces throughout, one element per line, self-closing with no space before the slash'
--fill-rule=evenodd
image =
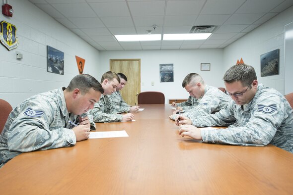
<path id="1" fill-rule="evenodd" d="M 292 21 L 293 6 L 226 47 L 223 52 L 223 69 L 227 70 L 236 63 L 237 59 L 242 57 L 244 63 L 254 67 L 259 83 L 263 83 L 267 87 L 275 88 L 284 94 L 285 25 Z M 280 49 L 280 74 L 261 77 L 260 55 L 275 49 Z M 287 65 L 292 66 L 292 64 Z M 292 81 L 293 79 L 291 79 Z"/>

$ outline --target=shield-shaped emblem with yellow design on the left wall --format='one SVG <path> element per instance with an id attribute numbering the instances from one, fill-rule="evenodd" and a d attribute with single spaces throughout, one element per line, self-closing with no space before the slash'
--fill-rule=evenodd
<path id="1" fill-rule="evenodd" d="M 1 21 L 0 42 L 7 49 L 15 49 L 18 46 L 18 39 L 15 35 L 16 27 L 6 21 Z"/>

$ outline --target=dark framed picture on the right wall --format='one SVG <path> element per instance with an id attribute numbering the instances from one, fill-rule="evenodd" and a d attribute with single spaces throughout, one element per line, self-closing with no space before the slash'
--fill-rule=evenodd
<path id="1" fill-rule="evenodd" d="M 279 74 L 279 49 L 260 55 L 260 76 Z"/>

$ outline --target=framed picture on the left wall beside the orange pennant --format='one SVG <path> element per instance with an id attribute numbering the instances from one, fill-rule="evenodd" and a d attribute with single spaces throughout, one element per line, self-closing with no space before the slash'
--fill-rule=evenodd
<path id="1" fill-rule="evenodd" d="M 47 46 L 47 72 L 64 75 L 64 52 Z"/>

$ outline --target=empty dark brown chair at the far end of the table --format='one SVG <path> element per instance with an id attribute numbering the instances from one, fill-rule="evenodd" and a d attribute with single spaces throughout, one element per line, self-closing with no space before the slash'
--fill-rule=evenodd
<path id="1" fill-rule="evenodd" d="M 161 92 L 141 92 L 138 96 L 139 104 L 164 104 L 165 96 Z"/>

